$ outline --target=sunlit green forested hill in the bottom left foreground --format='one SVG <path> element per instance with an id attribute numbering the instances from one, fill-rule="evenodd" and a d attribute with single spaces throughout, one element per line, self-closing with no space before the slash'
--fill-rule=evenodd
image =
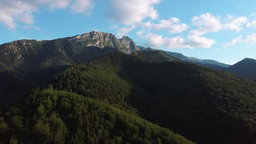
<path id="1" fill-rule="evenodd" d="M 109 104 L 51 88 L 37 89 L 19 109 L 0 113 L 3 143 L 193 143 Z"/>

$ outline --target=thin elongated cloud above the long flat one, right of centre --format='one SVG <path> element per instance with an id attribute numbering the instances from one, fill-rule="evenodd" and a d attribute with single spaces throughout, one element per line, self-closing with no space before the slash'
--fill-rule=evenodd
<path id="1" fill-rule="evenodd" d="M 143 28 L 162 30 L 166 29 L 170 33 L 182 33 L 186 31 L 189 26 L 181 23 L 176 17 L 171 17 L 168 20 L 160 20 L 159 23 L 142 22 L 140 24 Z"/>

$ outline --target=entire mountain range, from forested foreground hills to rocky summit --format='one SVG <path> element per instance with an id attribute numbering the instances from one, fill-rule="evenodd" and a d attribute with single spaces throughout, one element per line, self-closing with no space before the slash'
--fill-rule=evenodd
<path id="1" fill-rule="evenodd" d="M 255 65 L 102 32 L 6 43 L 0 143 L 255 143 Z"/>

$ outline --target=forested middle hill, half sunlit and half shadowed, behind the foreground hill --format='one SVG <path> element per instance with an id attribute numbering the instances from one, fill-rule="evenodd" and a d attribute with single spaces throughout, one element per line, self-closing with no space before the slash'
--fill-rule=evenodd
<path id="1" fill-rule="evenodd" d="M 131 105 L 149 121 L 197 143 L 255 141 L 256 83 L 221 71 L 115 52 L 63 71 L 53 84 L 120 107 Z"/>

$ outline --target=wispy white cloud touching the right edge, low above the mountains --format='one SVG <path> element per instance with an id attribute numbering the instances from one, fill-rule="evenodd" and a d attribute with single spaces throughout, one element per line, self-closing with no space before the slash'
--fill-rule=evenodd
<path id="1" fill-rule="evenodd" d="M 223 43 L 223 46 L 228 47 L 237 43 L 256 43 L 256 33 L 247 34 L 246 38 L 243 38 L 242 35 L 240 35 L 239 37 L 232 39 L 228 43 Z"/>

